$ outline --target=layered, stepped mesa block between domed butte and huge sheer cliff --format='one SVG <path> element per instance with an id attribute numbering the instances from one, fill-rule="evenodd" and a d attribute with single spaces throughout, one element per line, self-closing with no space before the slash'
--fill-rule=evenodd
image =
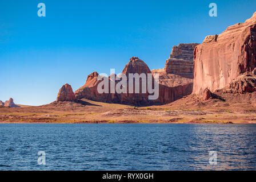
<path id="1" fill-rule="evenodd" d="M 170 58 L 166 60 L 166 73 L 191 73 L 193 75 L 193 52 L 197 43 L 174 46 Z"/>

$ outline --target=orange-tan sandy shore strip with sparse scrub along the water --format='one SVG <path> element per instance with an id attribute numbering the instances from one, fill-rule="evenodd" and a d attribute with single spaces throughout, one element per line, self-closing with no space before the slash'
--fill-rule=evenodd
<path id="1" fill-rule="evenodd" d="M 256 123 L 253 106 L 214 107 L 182 104 L 154 107 L 87 101 L 92 105 L 0 108 L 1 123 Z M 250 112 L 249 112 L 250 111 Z M 230 114 L 233 113 L 233 114 Z M 178 119 L 177 119 L 178 118 Z"/>

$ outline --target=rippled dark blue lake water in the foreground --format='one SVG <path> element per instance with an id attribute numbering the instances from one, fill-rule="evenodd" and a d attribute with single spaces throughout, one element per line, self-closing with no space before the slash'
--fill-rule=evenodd
<path id="1" fill-rule="evenodd" d="M 0 170 L 256 169 L 256 125 L 0 124 L 0 136 Z"/>

